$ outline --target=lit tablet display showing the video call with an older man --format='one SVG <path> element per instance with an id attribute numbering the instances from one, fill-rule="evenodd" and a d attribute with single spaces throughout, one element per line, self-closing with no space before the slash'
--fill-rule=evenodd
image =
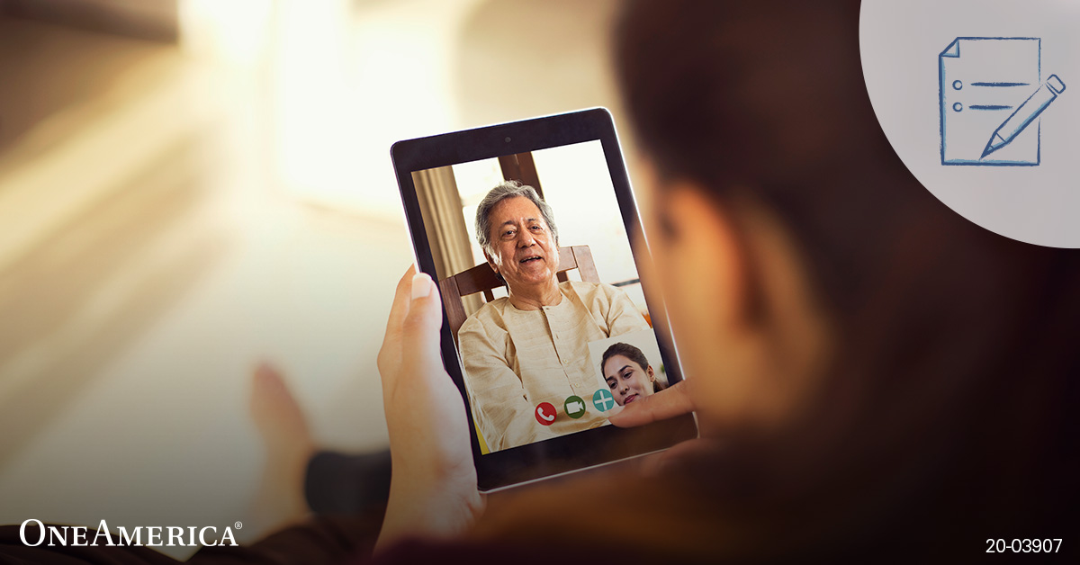
<path id="1" fill-rule="evenodd" d="M 498 284 L 490 299 L 441 285 L 461 305 L 451 329 L 482 453 L 607 426 L 669 385 L 599 140 L 416 171 L 413 184 L 437 280 Z M 537 304 L 552 272 L 557 295 Z"/>

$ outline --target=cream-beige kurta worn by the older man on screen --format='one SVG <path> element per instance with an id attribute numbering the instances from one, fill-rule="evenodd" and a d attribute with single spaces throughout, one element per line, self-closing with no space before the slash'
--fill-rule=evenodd
<path id="1" fill-rule="evenodd" d="M 539 310 L 492 300 L 458 332 L 476 425 L 492 452 L 607 423 L 592 403 L 606 385 L 592 366 L 589 342 L 649 328 L 615 286 L 568 281 L 558 288 L 562 301 Z M 571 395 L 585 401 L 588 412 L 579 419 L 564 409 Z M 555 406 L 555 423 L 537 421 L 541 402 Z"/>

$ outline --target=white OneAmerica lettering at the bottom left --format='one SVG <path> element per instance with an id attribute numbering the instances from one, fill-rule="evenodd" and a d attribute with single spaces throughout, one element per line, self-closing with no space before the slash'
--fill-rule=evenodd
<path id="1" fill-rule="evenodd" d="M 37 532 L 31 526 L 27 532 L 27 524 L 37 524 Z M 237 522 L 240 528 L 240 522 Z M 18 539 L 24 546 L 36 548 L 45 543 L 50 548 L 57 546 L 86 548 L 98 546 L 127 546 L 127 547 L 201 547 L 201 546 L 239 546 L 232 535 L 232 528 L 226 526 L 220 535 L 217 527 L 206 526 L 136 526 L 130 532 L 120 526 L 117 533 L 109 532 L 109 525 L 103 520 L 97 529 L 86 526 L 45 526 L 40 520 L 27 520 L 18 528 Z M 145 542 L 144 542 L 145 541 Z"/>

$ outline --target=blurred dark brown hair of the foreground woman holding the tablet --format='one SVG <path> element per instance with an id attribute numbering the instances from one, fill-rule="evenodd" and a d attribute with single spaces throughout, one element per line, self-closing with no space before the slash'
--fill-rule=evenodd
<path id="1" fill-rule="evenodd" d="M 769 210 L 838 334 L 762 496 L 850 502 L 868 528 L 928 512 L 935 539 L 1071 515 L 1078 256 L 976 227 L 915 180 L 870 106 L 859 2 L 636 1 L 617 57 L 660 177 Z"/>

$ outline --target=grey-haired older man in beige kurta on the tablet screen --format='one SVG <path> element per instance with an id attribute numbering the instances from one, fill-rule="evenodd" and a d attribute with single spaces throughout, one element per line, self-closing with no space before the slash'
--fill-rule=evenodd
<path id="1" fill-rule="evenodd" d="M 508 181 L 476 208 L 476 239 L 509 296 L 484 305 L 458 332 L 477 427 L 491 450 L 603 426 L 593 409 L 598 380 L 589 342 L 648 323 L 626 295 L 609 284 L 559 283 L 558 230 L 551 206 L 529 186 Z M 569 396 L 586 401 L 570 418 Z M 550 402 L 553 423 L 536 417 Z"/>

